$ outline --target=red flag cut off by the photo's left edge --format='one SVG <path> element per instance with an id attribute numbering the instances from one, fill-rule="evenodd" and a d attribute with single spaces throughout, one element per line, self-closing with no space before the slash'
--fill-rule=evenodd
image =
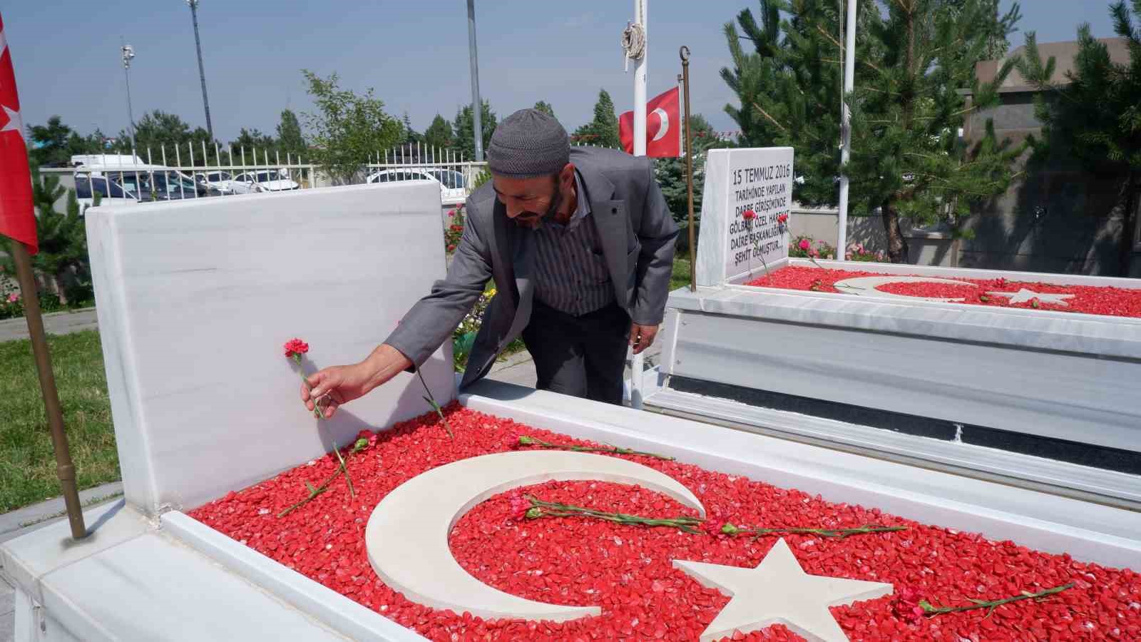
<path id="1" fill-rule="evenodd" d="M 24 121 L 19 118 L 16 72 L 3 37 L 3 17 L 0 17 L 0 234 L 24 243 L 30 254 L 39 251 Z"/>

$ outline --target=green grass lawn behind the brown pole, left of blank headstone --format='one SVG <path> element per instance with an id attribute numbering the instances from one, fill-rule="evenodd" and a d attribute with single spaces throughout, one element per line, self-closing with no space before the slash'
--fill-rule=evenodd
<path id="1" fill-rule="evenodd" d="M 119 479 L 96 330 L 49 336 L 80 490 Z M 0 343 L 0 513 L 59 495 L 56 457 L 29 340 Z"/>

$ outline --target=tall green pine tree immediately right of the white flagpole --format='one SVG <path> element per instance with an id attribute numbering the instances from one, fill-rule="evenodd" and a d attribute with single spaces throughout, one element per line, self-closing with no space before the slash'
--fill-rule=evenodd
<path id="1" fill-rule="evenodd" d="M 998 87 L 1015 61 L 992 82 L 974 65 L 1019 19 L 1015 3 L 1002 17 L 995 0 L 899 0 L 871 11 L 874 40 L 858 65 L 852 105 L 851 203 L 880 208 L 893 263 L 907 260 L 900 217 L 919 225 L 944 220 L 958 233 L 972 209 L 1006 191 L 1025 145 L 1000 143 L 987 120 L 968 147 L 965 118 L 998 104 Z M 969 88 L 971 101 L 961 91 Z"/>

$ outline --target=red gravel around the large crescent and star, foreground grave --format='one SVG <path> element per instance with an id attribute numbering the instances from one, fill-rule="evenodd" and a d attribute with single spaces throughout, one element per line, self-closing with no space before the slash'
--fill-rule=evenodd
<path id="1" fill-rule="evenodd" d="M 776 541 L 717 533 L 723 521 L 767 527 L 908 525 L 906 531 L 845 540 L 790 535 L 785 540 L 809 573 L 911 585 L 931 602 L 968 604 L 1075 581 L 1044 602 L 1023 601 L 907 624 L 893 615 L 892 597 L 833 608 L 852 640 L 1141 640 L 1141 575 L 1081 563 L 992 541 L 978 535 L 834 504 L 677 462 L 624 457 L 656 468 L 689 488 L 709 512 L 707 533 L 624 527 L 581 519 L 510 519 L 509 495 L 476 506 L 455 525 L 452 552 L 486 584 L 556 604 L 591 605 L 602 615 L 564 624 L 484 620 L 421 607 L 386 586 L 369 564 L 364 529 L 387 492 L 429 468 L 466 457 L 502 452 L 519 434 L 563 443 L 573 440 L 451 404 L 455 432 L 447 439 L 438 419 L 424 415 L 378 434 L 362 433 L 367 449 L 349 459 L 357 491 L 349 499 L 343 478 L 324 495 L 278 519 L 301 499 L 304 482 L 321 483 L 337 468 L 332 455 L 211 501 L 191 515 L 298 572 L 437 641 L 460 640 L 696 640 L 728 602 L 671 565 L 698 560 L 755 567 Z M 621 444 L 620 444 L 621 446 Z M 606 482 L 548 482 L 528 491 L 608 511 L 653 516 L 693 514 L 656 492 Z M 414 537 L 410 533 L 410 537 Z M 799 640 L 771 626 L 734 640 Z"/>

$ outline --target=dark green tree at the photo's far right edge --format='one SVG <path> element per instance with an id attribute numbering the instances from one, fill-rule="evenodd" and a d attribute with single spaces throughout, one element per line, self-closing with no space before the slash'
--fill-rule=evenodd
<path id="1" fill-rule="evenodd" d="M 1043 61 L 1035 33 L 1026 37 L 1025 58 L 1019 63 L 1023 78 L 1039 89 L 1035 114 L 1042 121 L 1042 138 L 1034 138 L 1034 161 L 1076 159 L 1099 177 L 1117 183 L 1112 215 L 1122 220 L 1118 268 L 1130 273 L 1133 227 L 1136 225 L 1138 191 L 1141 190 L 1141 0 L 1133 0 L 1133 14 L 1124 1 L 1110 6 L 1114 31 L 1127 43 L 1128 64 L 1110 59 L 1104 42 L 1077 30 L 1078 51 L 1068 82 L 1054 82 L 1054 57 Z"/>

